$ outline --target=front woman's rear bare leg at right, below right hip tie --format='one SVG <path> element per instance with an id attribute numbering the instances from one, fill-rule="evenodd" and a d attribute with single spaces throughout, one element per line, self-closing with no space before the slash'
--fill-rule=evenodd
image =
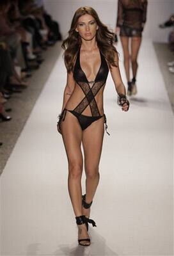
<path id="1" fill-rule="evenodd" d="M 84 168 L 86 173 L 86 203 L 90 204 L 99 184 L 99 162 L 104 137 L 104 118 L 93 122 L 83 131 Z M 83 208 L 83 214 L 90 216 L 90 209 Z"/>

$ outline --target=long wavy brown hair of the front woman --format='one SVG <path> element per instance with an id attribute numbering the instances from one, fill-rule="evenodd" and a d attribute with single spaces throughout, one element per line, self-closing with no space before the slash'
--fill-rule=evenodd
<path id="1" fill-rule="evenodd" d="M 82 43 L 81 36 L 79 36 L 79 33 L 75 31 L 75 28 L 77 28 L 77 22 L 79 17 L 83 16 L 86 13 L 90 14 L 97 22 L 99 28 L 97 29 L 95 38 L 100 51 L 105 56 L 109 64 L 109 67 L 111 67 L 111 65 L 117 67 L 114 54 L 114 52 L 116 52 L 116 49 L 113 46 L 115 34 L 109 31 L 107 26 L 100 21 L 97 12 L 95 12 L 93 8 L 84 6 L 77 9 L 77 11 L 74 13 L 70 30 L 68 31 L 68 37 L 63 41 L 63 44 L 61 45 L 61 47 L 65 50 L 64 58 L 67 71 L 73 71 L 75 56 Z"/>

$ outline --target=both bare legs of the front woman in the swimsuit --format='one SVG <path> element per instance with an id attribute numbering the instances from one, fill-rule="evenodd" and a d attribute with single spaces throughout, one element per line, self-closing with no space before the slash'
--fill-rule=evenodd
<path id="1" fill-rule="evenodd" d="M 77 118 L 67 111 L 65 120 L 61 122 L 61 132 L 68 158 L 68 191 L 72 201 L 75 216 L 86 215 L 89 212 L 82 209 L 81 177 L 83 172 L 83 156 L 81 141 L 84 148 L 84 166 L 86 172 L 86 202 L 91 202 L 99 184 L 99 161 L 102 152 L 104 136 L 104 118 L 93 122 L 84 131 L 81 130 Z M 83 212 L 87 211 L 87 212 Z M 79 239 L 88 238 L 86 225 L 78 225 Z M 81 244 L 90 244 L 82 241 Z"/>

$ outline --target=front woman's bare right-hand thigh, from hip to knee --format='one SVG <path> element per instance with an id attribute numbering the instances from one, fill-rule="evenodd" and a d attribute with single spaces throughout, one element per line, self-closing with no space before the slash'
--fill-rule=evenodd
<path id="1" fill-rule="evenodd" d="M 99 166 L 104 138 L 104 117 L 93 122 L 83 131 L 85 170 L 96 170 Z"/>

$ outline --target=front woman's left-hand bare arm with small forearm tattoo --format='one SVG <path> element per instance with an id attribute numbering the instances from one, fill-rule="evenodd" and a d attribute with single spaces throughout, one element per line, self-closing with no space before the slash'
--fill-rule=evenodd
<path id="1" fill-rule="evenodd" d="M 75 81 L 74 81 L 73 73 L 72 72 L 67 73 L 67 84 L 65 86 L 65 90 L 63 93 L 63 106 L 62 106 L 61 112 L 65 108 L 68 102 L 68 99 L 72 95 L 72 92 L 74 91 L 74 87 L 75 87 Z"/>

